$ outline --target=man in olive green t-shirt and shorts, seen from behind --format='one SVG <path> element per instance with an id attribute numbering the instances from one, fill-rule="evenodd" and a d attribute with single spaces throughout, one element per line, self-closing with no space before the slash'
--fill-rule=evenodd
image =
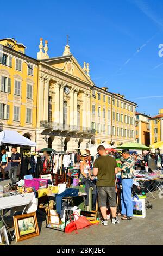
<path id="1" fill-rule="evenodd" d="M 115 173 L 117 170 L 117 162 L 114 157 L 108 156 L 105 152 L 103 145 L 97 148 L 98 159 L 95 160 L 93 165 L 93 175 L 97 176 L 97 192 L 98 192 L 98 205 L 103 216 L 103 225 L 108 225 L 106 218 L 106 203 L 109 200 L 110 211 L 112 215 L 112 224 L 117 224 L 120 221 L 116 217 L 116 191 L 115 191 Z"/>

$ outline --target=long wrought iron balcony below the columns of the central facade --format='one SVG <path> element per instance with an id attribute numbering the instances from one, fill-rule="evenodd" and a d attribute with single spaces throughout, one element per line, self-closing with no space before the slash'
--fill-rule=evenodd
<path id="1" fill-rule="evenodd" d="M 83 133 L 95 134 L 95 130 L 91 128 L 77 126 L 77 125 L 60 124 L 60 123 L 49 122 L 49 121 L 40 121 L 40 128 L 51 129 L 55 131 L 83 132 Z"/>

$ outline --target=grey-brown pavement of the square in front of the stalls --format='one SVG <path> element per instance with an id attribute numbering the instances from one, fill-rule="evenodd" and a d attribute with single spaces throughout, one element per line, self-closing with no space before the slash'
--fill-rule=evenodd
<path id="1" fill-rule="evenodd" d="M 1 182 L 0 182 L 1 183 Z M 133 218 L 108 227 L 102 224 L 91 226 L 76 233 L 62 233 L 45 228 L 45 220 L 38 216 L 40 236 L 11 242 L 11 245 L 163 245 L 163 199 L 158 192 L 150 199 L 153 209 L 147 209 L 146 218 Z"/>

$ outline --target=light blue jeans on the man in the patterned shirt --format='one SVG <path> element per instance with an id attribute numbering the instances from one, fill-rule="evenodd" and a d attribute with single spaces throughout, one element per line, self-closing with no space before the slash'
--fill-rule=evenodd
<path id="1" fill-rule="evenodd" d="M 133 216 L 133 202 L 131 195 L 131 187 L 133 186 L 133 179 L 122 179 L 121 192 L 121 214 L 126 216 Z"/>

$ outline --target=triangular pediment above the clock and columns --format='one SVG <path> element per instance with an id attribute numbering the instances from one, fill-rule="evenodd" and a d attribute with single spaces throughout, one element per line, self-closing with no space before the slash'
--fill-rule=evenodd
<path id="1" fill-rule="evenodd" d="M 65 72 L 66 74 L 70 74 L 93 85 L 91 78 L 86 74 L 82 66 L 79 65 L 76 58 L 72 55 L 46 59 L 43 60 L 43 62 Z"/>

